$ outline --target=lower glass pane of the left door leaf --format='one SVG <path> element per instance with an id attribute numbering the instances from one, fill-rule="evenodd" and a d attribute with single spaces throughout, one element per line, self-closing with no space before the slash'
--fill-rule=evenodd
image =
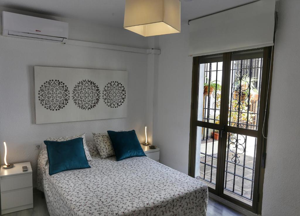
<path id="1" fill-rule="evenodd" d="M 195 178 L 208 187 L 216 186 L 219 134 L 215 130 L 197 127 Z"/>

